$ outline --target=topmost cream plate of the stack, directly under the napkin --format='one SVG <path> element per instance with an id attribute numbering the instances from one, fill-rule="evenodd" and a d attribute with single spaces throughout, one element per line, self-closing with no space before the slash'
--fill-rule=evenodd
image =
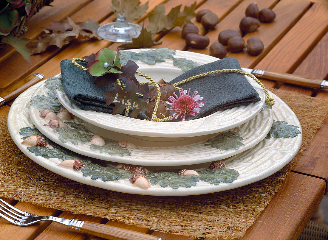
<path id="1" fill-rule="evenodd" d="M 131 51 L 141 52 L 145 50 L 148 49 L 134 49 Z M 154 56 L 154 52 L 152 52 L 152 54 L 152 56 Z M 192 60 L 201 65 L 218 60 L 217 58 L 208 55 L 179 50 L 175 51 L 174 58 Z M 170 82 L 175 77 L 183 73 L 180 68 L 174 66 L 174 61 L 172 59 L 167 59 L 165 62 L 156 63 L 155 65 L 148 65 L 141 61 L 136 61 L 136 63 L 139 66 L 138 71 L 147 74 L 156 81 L 163 78 L 165 81 Z M 246 78 L 259 93 L 259 97 L 261 98 L 260 101 L 252 102 L 247 106 L 239 106 L 232 109 L 218 111 L 204 118 L 188 120 L 184 122 L 153 122 L 131 119 L 121 115 L 112 116 L 108 113 L 85 111 L 72 103 L 64 92 L 56 89 L 56 94 L 59 102 L 61 102 L 61 104 L 73 115 L 93 125 L 111 130 L 113 132 L 148 137 L 195 137 L 232 129 L 234 127 L 240 126 L 241 124 L 251 120 L 256 116 L 256 114 L 262 109 L 264 105 L 265 94 L 258 83 L 256 83 L 250 77 Z M 145 79 L 139 77 L 138 81 L 145 82 Z M 192 89 L 192 91 L 194 90 L 197 89 Z"/>

